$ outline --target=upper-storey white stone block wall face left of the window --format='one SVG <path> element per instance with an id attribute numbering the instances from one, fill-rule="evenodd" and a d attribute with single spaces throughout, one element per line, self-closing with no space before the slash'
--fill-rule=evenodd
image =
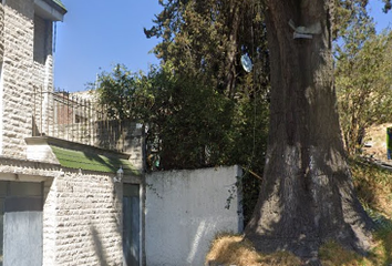
<path id="1" fill-rule="evenodd" d="M 7 1 L 2 84 L 2 155 L 24 157 L 24 137 L 31 134 L 33 0 Z"/>

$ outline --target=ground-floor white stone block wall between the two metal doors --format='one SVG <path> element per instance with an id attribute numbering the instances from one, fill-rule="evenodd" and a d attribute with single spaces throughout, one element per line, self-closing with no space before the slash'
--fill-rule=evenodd
<path id="1" fill-rule="evenodd" d="M 122 185 L 102 174 L 45 182 L 43 265 L 122 265 Z"/>

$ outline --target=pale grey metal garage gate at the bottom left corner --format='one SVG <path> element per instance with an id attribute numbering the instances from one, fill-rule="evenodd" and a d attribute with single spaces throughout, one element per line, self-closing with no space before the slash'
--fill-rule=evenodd
<path id="1" fill-rule="evenodd" d="M 0 182 L 0 266 L 42 265 L 42 183 Z"/>

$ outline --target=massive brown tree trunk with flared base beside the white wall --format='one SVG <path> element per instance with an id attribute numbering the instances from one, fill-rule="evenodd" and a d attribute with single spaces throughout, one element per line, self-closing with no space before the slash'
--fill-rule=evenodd
<path id="1" fill-rule="evenodd" d="M 359 203 L 341 141 L 331 55 L 332 0 L 269 0 L 270 130 L 259 201 L 246 236 L 264 252 L 316 256 L 334 239 L 364 252 L 372 221 Z M 289 25 L 320 23 L 312 39 Z"/>

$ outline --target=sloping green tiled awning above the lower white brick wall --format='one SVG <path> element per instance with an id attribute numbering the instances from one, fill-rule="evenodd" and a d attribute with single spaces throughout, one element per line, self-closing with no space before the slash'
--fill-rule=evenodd
<path id="1" fill-rule="evenodd" d="M 120 167 L 123 167 L 124 175 L 140 175 L 140 172 L 133 167 L 130 161 L 121 158 L 115 154 L 97 154 L 54 145 L 50 146 L 63 167 L 100 171 L 106 173 L 116 173 Z"/>

